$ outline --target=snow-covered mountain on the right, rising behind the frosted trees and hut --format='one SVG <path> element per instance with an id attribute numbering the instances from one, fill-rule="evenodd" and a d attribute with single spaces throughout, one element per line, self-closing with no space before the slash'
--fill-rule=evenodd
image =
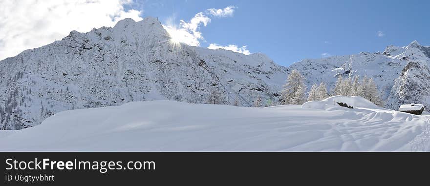
<path id="1" fill-rule="evenodd" d="M 382 91 L 385 107 L 397 109 L 404 103 L 424 103 L 430 110 L 430 47 L 417 41 L 408 46 L 387 46 L 383 53 L 305 59 L 288 67 L 306 77 L 307 86 L 325 82 L 333 88 L 339 76 L 373 78 Z M 288 73 L 289 73 L 288 72 Z"/>

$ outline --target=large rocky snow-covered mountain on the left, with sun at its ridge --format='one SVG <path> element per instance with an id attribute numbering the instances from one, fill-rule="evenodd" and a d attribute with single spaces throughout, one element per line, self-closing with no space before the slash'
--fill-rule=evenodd
<path id="1" fill-rule="evenodd" d="M 274 99 L 286 68 L 263 54 L 178 44 L 156 18 L 119 21 L 0 61 L 0 129 L 40 124 L 54 113 L 175 100 L 250 106 Z"/>

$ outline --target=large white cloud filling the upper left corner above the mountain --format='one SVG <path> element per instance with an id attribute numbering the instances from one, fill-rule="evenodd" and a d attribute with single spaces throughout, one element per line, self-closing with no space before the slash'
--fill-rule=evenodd
<path id="1" fill-rule="evenodd" d="M 70 31 L 141 21 L 141 11 L 126 11 L 131 0 L 0 0 L 0 60 L 61 40 Z"/>

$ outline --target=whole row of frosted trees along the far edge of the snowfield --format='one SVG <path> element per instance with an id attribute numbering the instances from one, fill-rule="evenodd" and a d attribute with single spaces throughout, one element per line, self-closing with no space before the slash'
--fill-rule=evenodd
<path id="1" fill-rule="evenodd" d="M 225 98 L 220 90 L 215 89 L 208 97 L 208 104 L 228 104 L 228 99 Z M 257 95 L 255 100 L 250 103 L 254 107 L 274 106 L 279 104 L 303 104 L 308 101 L 321 101 L 330 96 L 361 96 L 378 106 L 384 106 L 380 91 L 372 78 L 364 76 L 354 76 L 343 78 L 339 76 L 335 86 L 329 92 L 325 82 L 319 84 L 314 83 L 307 92 L 305 78 L 298 70 L 292 70 L 287 77 L 286 83 L 280 91 L 279 102 L 273 99 L 263 100 L 261 95 Z M 254 97 L 254 96 L 252 96 Z M 241 106 L 239 97 L 236 96 L 233 105 Z"/>

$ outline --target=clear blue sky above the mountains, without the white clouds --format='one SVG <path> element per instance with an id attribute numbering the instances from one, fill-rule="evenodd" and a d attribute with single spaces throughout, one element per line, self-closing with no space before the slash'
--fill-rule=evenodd
<path id="1" fill-rule="evenodd" d="M 229 17 L 200 26 L 204 41 L 247 46 L 281 65 L 305 58 L 383 51 L 413 40 L 428 45 L 430 1 L 405 0 L 135 0 L 126 8 L 163 24 L 190 21 L 209 8 L 234 6 Z"/>

